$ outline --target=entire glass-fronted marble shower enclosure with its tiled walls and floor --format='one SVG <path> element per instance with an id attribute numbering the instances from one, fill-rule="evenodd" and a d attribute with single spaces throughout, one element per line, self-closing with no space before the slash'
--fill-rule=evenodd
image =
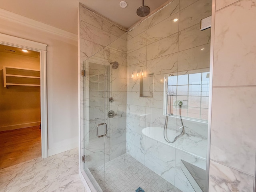
<path id="1" fill-rule="evenodd" d="M 210 0 L 173 0 L 125 32 L 80 4 L 81 172 L 91 191 L 207 191 L 210 29 L 200 20 L 210 14 Z"/>

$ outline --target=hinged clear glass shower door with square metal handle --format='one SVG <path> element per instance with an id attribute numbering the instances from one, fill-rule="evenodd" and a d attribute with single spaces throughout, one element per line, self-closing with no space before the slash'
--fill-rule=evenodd
<path id="1" fill-rule="evenodd" d="M 101 56 L 101 57 L 100 57 Z M 109 66 L 105 65 L 104 55 L 98 53 L 84 61 L 83 69 L 83 116 L 82 137 L 84 162 L 82 168 L 97 191 L 104 190 L 105 144 L 108 125 L 106 123 L 106 87 Z M 96 169 L 101 174 L 96 172 Z"/>

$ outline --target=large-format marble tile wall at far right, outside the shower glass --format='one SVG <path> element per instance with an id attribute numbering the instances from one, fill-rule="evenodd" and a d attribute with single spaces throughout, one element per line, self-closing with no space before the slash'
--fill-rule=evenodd
<path id="1" fill-rule="evenodd" d="M 216 0 L 209 192 L 255 191 L 255 5 Z"/>

